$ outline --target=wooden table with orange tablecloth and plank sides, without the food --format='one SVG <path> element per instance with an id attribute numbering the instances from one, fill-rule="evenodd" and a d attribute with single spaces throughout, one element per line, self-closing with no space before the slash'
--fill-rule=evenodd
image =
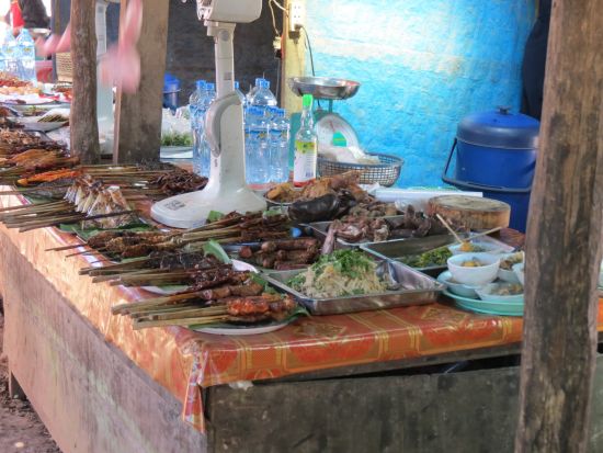
<path id="1" fill-rule="evenodd" d="M 374 331 L 367 338 L 378 350 L 371 354 L 380 355 L 362 360 L 341 360 L 343 346 L 352 347 L 352 358 L 359 352 L 350 332 L 337 342 L 316 338 L 325 326 L 359 327 L 303 320 L 280 335 L 307 335 L 316 370 L 292 370 L 291 360 L 276 369 L 269 355 L 287 358 L 293 349 L 291 342 L 269 348 L 282 337 L 241 341 L 191 338 L 181 328 L 133 331 L 109 307 L 145 294 L 92 284 L 78 274 L 82 258 L 44 251 L 72 240 L 53 229 L 0 228 L 12 390 L 24 390 L 65 452 L 471 452 L 491 451 L 492 444 L 512 451 L 521 320 L 439 304 L 406 308 L 395 322 L 407 326 Z M 430 336 L 437 340 L 428 341 Z M 229 372 L 216 370 L 230 353 Z M 446 372 L 454 366 L 464 372 Z M 215 382 L 200 390 L 203 380 Z M 600 451 L 603 373 L 595 392 L 592 448 Z M 196 414 L 201 401 L 203 412 L 198 407 Z M 183 406 L 196 428 L 195 417 L 205 421 L 205 434 L 182 420 Z"/>

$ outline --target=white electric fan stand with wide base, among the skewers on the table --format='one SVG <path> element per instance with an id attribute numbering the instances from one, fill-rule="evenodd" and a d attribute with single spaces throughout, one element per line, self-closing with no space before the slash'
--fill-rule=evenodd
<path id="1" fill-rule="evenodd" d="M 212 211 L 246 213 L 266 207 L 246 184 L 243 106 L 235 92 L 232 38 L 236 23 L 249 23 L 262 12 L 262 0 L 197 0 L 197 15 L 214 37 L 217 99 L 207 111 L 206 134 L 212 149 L 209 182 L 203 191 L 156 203 L 151 216 L 174 228 L 205 224 Z"/>

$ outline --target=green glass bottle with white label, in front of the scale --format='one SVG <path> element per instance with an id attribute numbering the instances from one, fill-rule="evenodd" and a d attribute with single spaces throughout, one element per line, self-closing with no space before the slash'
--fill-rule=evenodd
<path id="1" fill-rule="evenodd" d="M 316 159 L 318 157 L 318 137 L 314 131 L 311 94 L 304 94 L 302 124 L 295 135 L 295 161 L 293 165 L 293 184 L 302 188 L 316 179 Z"/>

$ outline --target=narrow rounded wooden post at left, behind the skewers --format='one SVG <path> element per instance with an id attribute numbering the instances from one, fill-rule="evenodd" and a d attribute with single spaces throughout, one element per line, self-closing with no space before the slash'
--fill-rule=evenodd
<path id="1" fill-rule="evenodd" d="M 96 33 L 95 0 L 71 1 L 71 61 L 73 101 L 71 102 L 71 150 L 82 163 L 100 158 L 96 122 Z"/>

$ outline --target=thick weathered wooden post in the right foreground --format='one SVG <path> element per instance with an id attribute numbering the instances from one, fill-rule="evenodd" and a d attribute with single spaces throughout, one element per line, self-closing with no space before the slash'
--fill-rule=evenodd
<path id="1" fill-rule="evenodd" d="M 553 3 L 527 228 L 516 452 L 584 452 L 596 354 L 603 0 Z"/>

